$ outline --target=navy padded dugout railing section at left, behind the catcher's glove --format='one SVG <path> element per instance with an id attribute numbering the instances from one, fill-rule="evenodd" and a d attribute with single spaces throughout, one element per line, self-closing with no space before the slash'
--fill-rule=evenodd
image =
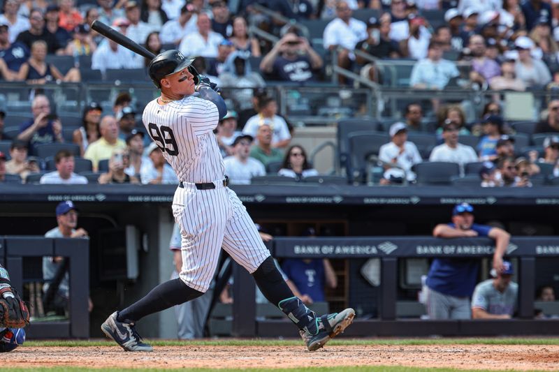
<path id="1" fill-rule="evenodd" d="M 0 262 L 10 274 L 10 281 L 24 299 L 24 284 L 29 281 L 25 274 L 27 258 L 61 256 L 68 260 L 70 297 L 68 318 L 45 321 L 31 318 L 26 327 L 27 338 L 88 338 L 89 337 L 89 239 L 50 239 L 37 236 L 1 236 Z M 64 272 L 60 274 L 64 275 Z M 42 281 L 42 278 L 31 280 Z M 36 305 L 37 306 L 37 305 Z"/>

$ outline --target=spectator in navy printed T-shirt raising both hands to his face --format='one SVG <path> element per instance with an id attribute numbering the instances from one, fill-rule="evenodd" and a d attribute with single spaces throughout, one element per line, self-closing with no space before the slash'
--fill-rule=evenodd
<path id="1" fill-rule="evenodd" d="M 309 41 L 291 32 L 284 35 L 260 62 L 262 73 L 273 80 L 309 82 L 316 79 L 322 59 Z"/>

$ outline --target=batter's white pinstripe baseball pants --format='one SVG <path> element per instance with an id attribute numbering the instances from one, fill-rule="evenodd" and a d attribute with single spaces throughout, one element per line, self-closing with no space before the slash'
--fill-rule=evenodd
<path id="1" fill-rule="evenodd" d="M 173 198 L 182 238 L 180 278 L 200 292 L 210 287 L 222 247 L 251 274 L 270 255 L 237 194 L 222 181 L 214 183 L 217 188 L 197 190 L 183 182 Z"/>

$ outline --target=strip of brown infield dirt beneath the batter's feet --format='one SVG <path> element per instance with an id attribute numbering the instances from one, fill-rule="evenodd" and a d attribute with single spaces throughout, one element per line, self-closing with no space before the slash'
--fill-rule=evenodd
<path id="1" fill-rule="evenodd" d="M 155 346 L 154 352 L 124 352 L 119 346 L 21 347 L 10 366 L 89 368 L 292 368 L 320 366 L 413 366 L 454 369 L 559 369 L 559 345 L 327 345 Z"/>

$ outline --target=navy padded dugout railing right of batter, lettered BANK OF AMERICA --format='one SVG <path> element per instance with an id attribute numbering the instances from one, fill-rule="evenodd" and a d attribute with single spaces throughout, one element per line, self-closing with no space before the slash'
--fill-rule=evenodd
<path id="1" fill-rule="evenodd" d="M 513 237 L 507 258 L 518 262 L 518 312 L 511 320 L 423 320 L 396 316 L 398 260 L 405 258 L 491 258 L 491 239 L 436 239 L 433 237 L 277 237 L 273 241 L 275 258 L 378 258 L 381 295 L 379 317 L 356 317 L 347 336 L 496 336 L 556 335 L 559 320 L 534 318 L 535 259 L 557 257 L 557 237 Z M 233 336 L 292 336 L 286 320 L 259 320 L 252 306 L 252 277 L 238 265 L 233 269 Z M 236 306 L 235 306 L 236 304 Z"/>

